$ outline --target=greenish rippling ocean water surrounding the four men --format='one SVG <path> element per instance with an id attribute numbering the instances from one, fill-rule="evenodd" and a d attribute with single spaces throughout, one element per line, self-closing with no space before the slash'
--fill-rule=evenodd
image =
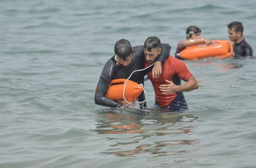
<path id="1" fill-rule="evenodd" d="M 1 168 L 256 167 L 256 59 L 184 61 L 189 111 L 109 109 L 94 88 L 121 38 L 171 45 L 189 25 L 228 40 L 241 21 L 256 52 L 256 1 L 0 1 Z"/>

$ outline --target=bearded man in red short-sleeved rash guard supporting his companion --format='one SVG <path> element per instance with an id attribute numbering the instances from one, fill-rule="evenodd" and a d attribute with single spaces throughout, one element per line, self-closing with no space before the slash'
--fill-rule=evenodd
<path id="1" fill-rule="evenodd" d="M 149 37 L 144 43 L 145 68 L 155 62 L 161 54 L 161 41 L 157 37 Z M 155 91 L 155 106 L 162 107 L 170 112 L 188 110 L 183 92 L 198 89 L 198 82 L 185 63 L 169 55 L 162 62 L 162 75 L 159 78 L 152 78 L 148 73 Z M 181 79 L 186 83 L 181 85 Z"/>

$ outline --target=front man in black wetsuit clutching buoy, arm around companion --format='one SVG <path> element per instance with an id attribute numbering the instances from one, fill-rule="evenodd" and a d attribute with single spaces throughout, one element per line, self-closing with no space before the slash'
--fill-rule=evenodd
<path id="1" fill-rule="evenodd" d="M 162 53 L 158 56 L 154 68 L 148 68 L 145 71 L 138 71 L 132 74 L 129 80 L 132 80 L 138 84 L 144 85 L 144 76 L 152 70 L 154 78 L 158 78 L 161 75 L 161 62 L 163 62 L 170 53 L 171 46 L 168 44 L 161 44 Z M 97 89 L 94 96 L 96 104 L 107 107 L 121 107 L 123 103 L 108 99 L 105 97 L 110 80 L 125 78 L 127 79 L 131 73 L 135 70 L 144 69 L 144 46 L 131 47 L 128 40 L 121 39 L 115 44 L 115 55 L 109 59 L 104 68 L 102 69 L 101 76 L 97 85 Z M 138 97 L 138 101 L 145 100 L 144 93 Z M 146 103 L 140 104 L 141 109 L 146 106 Z"/>

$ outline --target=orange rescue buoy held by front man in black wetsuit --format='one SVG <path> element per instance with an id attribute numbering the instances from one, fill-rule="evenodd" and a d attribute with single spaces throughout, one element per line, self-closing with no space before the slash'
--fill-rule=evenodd
<path id="1" fill-rule="evenodd" d="M 124 85 L 126 80 L 127 79 L 111 80 L 110 86 L 105 96 L 111 100 L 124 100 L 124 97 L 125 97 L 125 99 L 128 102 L 134 101 L 142 93 L 143 87 L 132 80 L 128 80 L 126 83 L 125 92 L 124 92 Z"/>

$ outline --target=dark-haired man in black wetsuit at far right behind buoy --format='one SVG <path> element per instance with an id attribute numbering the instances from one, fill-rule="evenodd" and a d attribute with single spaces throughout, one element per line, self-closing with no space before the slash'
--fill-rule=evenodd
<path id="1" fill-rule="evenodd" d="M 228 24 L 228 37 L 234 42 L 234 56 L 253 56 L 252 47 L 243 38 L 243 25 L 238 21 Z"/>

